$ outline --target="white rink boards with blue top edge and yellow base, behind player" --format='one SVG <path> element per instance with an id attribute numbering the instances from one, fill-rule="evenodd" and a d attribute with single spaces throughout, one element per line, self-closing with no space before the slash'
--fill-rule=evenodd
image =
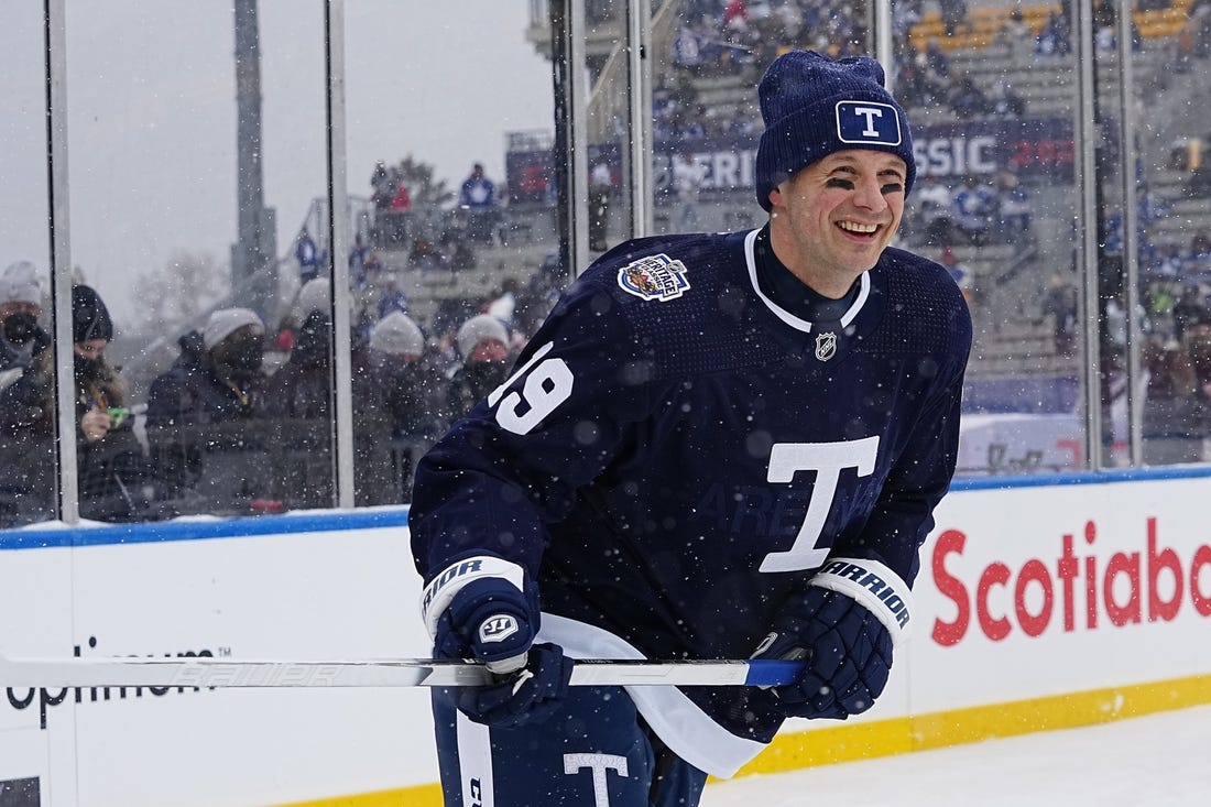
<path id="1" fill-rule="evenodd" d="M 1211 703 L 1211 469 L 1048 481 L 959 486 L 880 702 L 793 721 L 745 772 Z M 406 522 L 0 532 L 0 652 L 424 656 Z M 431 731 L 421 689 L 6 689 L 0 783 L 21 784 L 0 786 L 22 807 L 437 805 Z"/>

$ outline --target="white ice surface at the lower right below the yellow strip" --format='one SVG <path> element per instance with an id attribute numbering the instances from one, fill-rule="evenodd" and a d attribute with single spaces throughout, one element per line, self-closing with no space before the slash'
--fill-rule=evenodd
<path id="1" fill-rule="evenodd" d="M 707 786 L 702 807 L 1204 807 L 1211 706 Z"/>

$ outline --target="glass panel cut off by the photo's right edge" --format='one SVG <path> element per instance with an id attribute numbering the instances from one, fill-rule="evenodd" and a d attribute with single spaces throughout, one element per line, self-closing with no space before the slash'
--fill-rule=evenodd
<path id="1" fill-rule="evenodd" d="M 1195 6 L 1206 7 L 1141 0 L 1132 15 L 1136 246 L 1148 325 L 1142 434 L 1143 460 L 1150 465 L 1211 458 L 1205 445 L 1211 428 L 1211 113 L 1204 101 L 1211 16 Z"/>

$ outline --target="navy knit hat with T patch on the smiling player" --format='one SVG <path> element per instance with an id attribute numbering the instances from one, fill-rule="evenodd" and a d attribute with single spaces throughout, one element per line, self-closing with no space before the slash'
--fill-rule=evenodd
<path id="1" fill-rule="evenodd" d="M 831 59 L 791 51 L 774 59 L 757 87 L 765 132 L 757 147 L 757 202 L 800 168 L 833 151 L 889 151 L 908 166 L 905 193 L 917 167 L 908 118 L 883 87 L 883 67 L 865 56 Z"/>

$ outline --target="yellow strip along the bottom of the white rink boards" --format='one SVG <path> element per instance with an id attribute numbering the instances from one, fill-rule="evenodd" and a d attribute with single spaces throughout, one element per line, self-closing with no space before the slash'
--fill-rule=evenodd
<path id="1" fill-rule="evenodd" d="M 737 777 L 786 773 L 820 765 L 925 751 L 998 737 L 1095 726 L 1158 711 L 1211 703 L 1211 675 L 1090 689 L 1029 700 L 969 706 L 912 717 L 779 734 Z M 442 807 L 437 784 L 357 796 L 297 802 L 282 807 Z"/>

